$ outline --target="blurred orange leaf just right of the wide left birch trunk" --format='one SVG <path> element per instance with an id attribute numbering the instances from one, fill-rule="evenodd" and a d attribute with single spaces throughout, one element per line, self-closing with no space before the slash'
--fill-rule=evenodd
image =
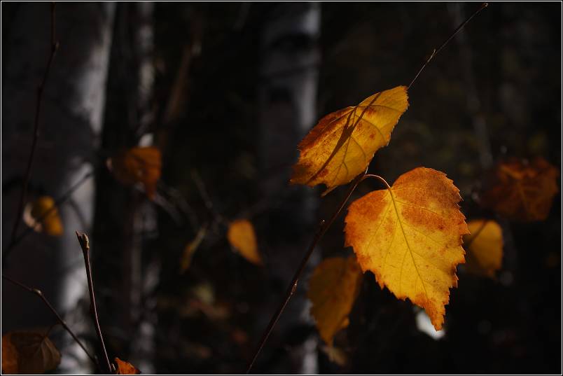
<path id="1" fill-rule="evenodd" d="M 108 160 L 108 167 L 121 183 L 142 183 L 146 195 L 151 199 L 154 197 L 162 167 L 158 148 L 147 146 L 121 151 Z"/>

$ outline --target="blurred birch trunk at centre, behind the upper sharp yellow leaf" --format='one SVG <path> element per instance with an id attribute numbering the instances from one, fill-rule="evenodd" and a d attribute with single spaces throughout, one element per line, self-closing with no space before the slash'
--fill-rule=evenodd
<path id="1" fill-rule="evenodd" d="M 271 8 L 272 20 L 264 23 L 261 41 L 261 82 L 258 88 L 260 123 L 260 166 L 262 191 L 276 207 L 265 214 L 267 223 L 268 273 L 278 279 L 284 289 L 267 301 L 274 312 L 285 286 L 303 258 L 314 234 L 317 200 L 310 188 L 288 188 L 290 166 L 296 161 L 296 146 L 317 120 L 317 82 L 319 64 L 320 4 L 277 4 Z M 284 228 L 284 232 L 279 229 Z M 306 274 L 306 273 L 305 273 Z M 304 276 L 305 277 L 305 276 Z M 298 291 L 281 316 L 265 347 L 262 361 L 276 347 L 289 342 L 291 328 L 308 319 L 306 284 L 300 281 Z M 264 316 L 258 330 L 267 326 Z M 293 341 L 292 341 L 293 342 Z M 315 342 L 303 338 L 291 351 L 291 369 L 270 361 L 268 372 L 317 372 Z M 270 354 L 271 356 L 271 354 Z M 272 364 L 273 363 L 273 364 Z M 280 368 L 281 367 L 281 368 Z M 256 368 L 260 370 L 261 368 Z"/>

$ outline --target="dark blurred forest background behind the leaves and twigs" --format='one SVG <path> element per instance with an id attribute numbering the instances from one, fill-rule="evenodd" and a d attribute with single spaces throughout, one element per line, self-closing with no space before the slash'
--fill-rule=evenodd
<path id="1" fill-rule="evenodd" d="M 105 3 L 56 6 L 60 50 L 43 103 L 29 197 L 90 188 L 60 207 L 65 235 L 32 233 L 3 273 L 41 288 L 97 350 L 75 230 L 90 236 L 111 357 L 144 373 L 241 373 L 317 223 L 346 188 L 290 187 L 298 141 L 316 121 L 408 85 L 480 3 Z M 50 4 L 2 3 L 2 248 L 10 241 L 46 67 Z M 487 170 L 541 156 L 561 171 L 561 4 L 492 3 L 409 90 L 408 111 L 370 172 L 390 183 L 424 166 L 460 189 L 468 219 Z M 157 199 L 111 176 L 116 151 L 162 151 Z M 558 186 L 561 187 L 559 178 Z M 380 189 L 359 186 L 354 197 Z M 445 335 L 417 326 L 409 301 L 366 273 L 329 360 L 308 316 L 310 270 L 344 249 L 343 218 L 322 240 L 254 372 L 561 372 L 561 195 L 536 223 L 496 218 L 496 279 L 458 268 Z M 248 218 L 265 260 L 233 252 L 225 223 Z M 181 254 L 208 228 L 186 272 Z M 25 225 L 22 225 L 25 227 Z M 36 298 L 2 281 L 2 333 L 50 326 Z M 56 372 L 93 372 L 63 330 Z"/>

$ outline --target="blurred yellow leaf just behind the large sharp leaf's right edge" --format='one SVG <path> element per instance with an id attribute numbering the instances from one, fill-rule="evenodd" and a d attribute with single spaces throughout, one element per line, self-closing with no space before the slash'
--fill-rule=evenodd
<path id="1" fill-rule="evenodd" d="M 467 269 L 475 274 L 494 277 L 502 266 L 502 230 L 499 223 L 490 219 L 477 219 L 467 223 L 471 235 L 464 236 L 467 251 Z"/>

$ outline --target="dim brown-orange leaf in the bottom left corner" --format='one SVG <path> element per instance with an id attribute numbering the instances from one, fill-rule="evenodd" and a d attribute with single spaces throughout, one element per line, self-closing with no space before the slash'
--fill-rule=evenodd
<path id="1" fill-rule="evenodd" d="M 60 362 L 59 350 L 42 333 L 2 335 L 2 371 L 5 373 L 43 373 L 54 370 Z"/>

